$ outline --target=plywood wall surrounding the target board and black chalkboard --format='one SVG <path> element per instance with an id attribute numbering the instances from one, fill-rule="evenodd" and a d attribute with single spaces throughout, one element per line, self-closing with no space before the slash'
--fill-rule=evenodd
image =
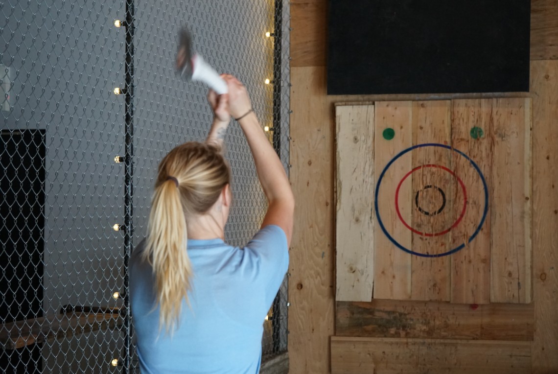
<path id="1" fill-rule="evenodd" d="M 349 337 L 361 334 L 369 338 L 408 334 L 420 339 L 429 332 L 434 334 L 432 338 L 443 339 L 508 337 L 508 340 L 528 342 L 532 373 L 558 372 L 558 309 L 555 307 L 558 295 L 558 190 L 555 188 L 558 171 L 554 166 L 558 165 L 558 152 L 555 152 L 558 144 L 558 1 L 532 0 L 531 3 L 531 93 L 526 96 L 533 99 L 533 302 L 516 305 L 518 310 L 467 304 L 456 304 L 456 309 L 446 310 L 434 302 L 393 304 L 390 300 L 364 305 L 340 303 L 336 308 L 334 103 L 452 99 L 454 96 L 328 97 L 325 72 L 327 0 L 291 1 L 291 183 L 297 199 L 289 283 L 291 373 L 331 372 L 331 360 L 339 357 L 339 350 L 333 344 L 335 354 L 330 354 L 330 339 L 342 334 L 342 330 Z M 506 317 L 514 313 L 520 317 Z M 424 325 L 413 325 L 411 322 L 419 317 Z M 461 318 L 470 329 L 451 323 Z M 346 325 L 341 325 L 343 321 Z M 489 329 L 485 329 L 487 325 Z M 369 349 L 358 348 L 362 346 L 356 343 L 354 347 L 355 353 L 364 356 Z M 524 368 L 523 372 L 529 371 Z"/>

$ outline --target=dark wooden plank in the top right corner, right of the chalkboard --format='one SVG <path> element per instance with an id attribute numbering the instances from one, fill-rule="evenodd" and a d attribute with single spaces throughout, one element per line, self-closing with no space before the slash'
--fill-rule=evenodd
<path id="1" fill-rule="evenodd" d="M 531 60 L 558 59 L 558 0 L 531 0 Z"/>

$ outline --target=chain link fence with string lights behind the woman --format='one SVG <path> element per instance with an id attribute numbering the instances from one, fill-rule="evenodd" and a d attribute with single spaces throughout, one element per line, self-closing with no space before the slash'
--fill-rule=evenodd
<path id="1" fill-rule="evenodd" d="M 206 87 L 174 71 L 183 25 L 215 70 L 246 85 L 288 170 L 287 1 L 0 2 L 0 372 L 139 372 L 128 256 L 158 162 L 203 141 L 212 119 Z M 237 123 L 225 143 L 225 239 L 242 246 L 267 204 Z M 286 281 L 262 349 L 264 362 L 286 352 Z"/>

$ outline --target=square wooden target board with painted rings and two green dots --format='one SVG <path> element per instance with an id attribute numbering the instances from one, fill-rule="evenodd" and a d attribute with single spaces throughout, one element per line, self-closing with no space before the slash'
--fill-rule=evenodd
<path id="1" fill-rule="evenodd" d="M 531 301 L 531 100 L 336 106 L 336 299 Z"/>

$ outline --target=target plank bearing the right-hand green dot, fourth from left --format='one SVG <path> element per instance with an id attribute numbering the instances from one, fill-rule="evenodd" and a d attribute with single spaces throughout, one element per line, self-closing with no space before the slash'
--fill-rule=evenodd
<path id="1" fill-rule="evenodd" d="M 451 119 L 451 145 L 468 155 L 484 176 L 489 176 L 492 160 L 493 99 L 454 100 Z M 478 128 L 471 133 L 472 128 Z M 481 132 L 483 135 L 481 135 Z M 454 171 L 467 186 L 469 196 L 466 215 L 451 232 L 451 243 L 465 248 L 451 255 L 451 302 L 463 304 L 488 304 L 490 302 L 490 219 L 473 239 L 485 209 L 484 186 L 479 174 L 471 170 L 469 162 L 454 153 Z M 490 217 L 488 204 L 487 217 Z"/>

